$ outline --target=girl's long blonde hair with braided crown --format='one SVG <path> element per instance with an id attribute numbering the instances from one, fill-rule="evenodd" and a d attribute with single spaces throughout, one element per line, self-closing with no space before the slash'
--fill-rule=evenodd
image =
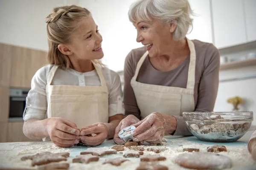
<path id="1" fill-rule="evenodd" d="M 54 8 L 46 17 L 49 64 L 59 65 L 61 68 L 73 68 L 69 57 L 59 51 L 58 45 L 69 43 L 72 33 L 77 28 L 77 23 L 85 17 L 91 17 L 90 11 L 75 5 Z M 98 59 L 93 62 L 105 66 Z"/>

